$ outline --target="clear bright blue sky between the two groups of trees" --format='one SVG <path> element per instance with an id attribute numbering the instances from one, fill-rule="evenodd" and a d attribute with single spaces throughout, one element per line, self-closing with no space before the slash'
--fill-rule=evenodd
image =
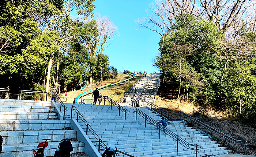
<path id="1" fill-rule="evenodd" d="M 119 71 L 131 69 L 132 71 L 147 70 L 148 73 L 158 72 L 152 66 L 157 55 L 160 36 L 146 28 L 137 29 L 135 20 L 146 16 L 146 9 L 152 0 L 95 0 L 94 13 L 108 16 L 118 27 L 118 36 L 113 40 L 104 54 L 109 56 L 110 65 Z"/>

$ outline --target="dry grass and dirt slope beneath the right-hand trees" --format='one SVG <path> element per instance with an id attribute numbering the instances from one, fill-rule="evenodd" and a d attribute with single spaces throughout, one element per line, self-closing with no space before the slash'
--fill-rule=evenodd
<path id="1" fill-rule="evenodd" d="M 166 110 L 182 111 L 194 118 L 204 122 L 207 125 L 212 126 L 213 128 L 233 137 L 236 140 L 245 140 L 246 144 L 246 155 L 255 155 L 256 154 L 256 130 L 255 128 L 250 127 L 249 125 L 243 124 L 237 120 L 227 118 L 221 112 L 216 112 L 212 109 L 209 109 L 207 116 L 200 114 L 196 105 L 188 101 L 177 100 L 177 91 L 161 86 L 158 90 L 156 105 L 162 107 Z M 188 121 L 188 124 L 190 122 Z M 206 132 L 205 128 L 200 128 L 199 125 L 190 124 L 196 126 L 197 128 Z M 242 145 L 236 145 L 232 142 L 224 142 L 224 138 L 208 130 L 208 133 L 218 141 L 222 146 L 226 146 L 227 149 L 233 150 L 234 153 L 243 154 L 244 147 Z"/>

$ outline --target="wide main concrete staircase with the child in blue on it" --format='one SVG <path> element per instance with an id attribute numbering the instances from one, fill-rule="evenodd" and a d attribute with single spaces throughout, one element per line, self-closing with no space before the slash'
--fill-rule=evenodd
<path id="1" fill-rule="evenodd" d="M 169 136 L 164 136 L 161 131 L 161 139 L 159 139 L 159 130 L 154 125 L 147 122 L 146 128 L 144 127 L 144 118 L 133 113 L 134 107 L 125 107 L 128 109 L 127 120 L 124 120 L 124 113 L 121 112 L 120 116 L 116 106 L 108 105 L 84 105 L 75 104 L 76 108 L 80 111 L 84 118 L 90 123 L 92 128 L 98 136 L 109 147 L 117 148 L 123 152 L 132 154 L 134 156 L 143 157 L 195 157 L 196 154 L 192 150 L 188 150 L 179 144 L 177 153 L 176 141 Z M 68 112 L 70 116 L 71 104 L 68 104 Z M 150 111 L 148 108 L 139 108 L 148 116 L 156 121 L 160 121 L 161 117 Z M 73 114 L 75 118 L 76 115 Z M 83 130 L 86 126 L 82 121 L 78 121 Z M 229 152 L 224 147 L 219 147 L 215 141 L 212 141 L 208 136 L 204 136 L 192 127 L 188 127 L 184 121 L 170 121 L 171 124 L 167 126 L 172 132 L 178 134 L 184 140 L 191 144 L 201 146 L 201 151 L 198 156 L 216 155 Z M 97 140 L 88 132 L 88 137 L 98 149 Z M 101 148 L 101 153 L 103 149 Z M 120 154 L 123 157 L 123 154 Z"/>

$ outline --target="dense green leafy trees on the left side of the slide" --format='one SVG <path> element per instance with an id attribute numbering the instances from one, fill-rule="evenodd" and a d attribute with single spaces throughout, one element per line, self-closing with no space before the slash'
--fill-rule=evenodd
<path id="1" fill-rule="evenodd" d="M 74 90 L 87 81 L 91 69 L 94 80 L 108 79 L 108 56 L 90 54 L 90 50 L 96 52 L 99 34 L 97 20 L 90 20 L 93 1 L 0 1 L 1 88 L 10 88 L 13 93 L 19 89 L 45 90 L 50 59 L 50 84 L 55 81 L 61 91 Z M 71 13 L 77 17 L 71 18 Z M 105 23 L 111 21 L 107 19 Z M 101 35 L 109 40 L 106 32 Z"/>

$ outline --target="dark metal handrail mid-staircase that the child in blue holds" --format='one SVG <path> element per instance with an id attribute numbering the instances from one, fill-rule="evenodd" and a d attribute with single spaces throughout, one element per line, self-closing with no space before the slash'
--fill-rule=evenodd
<path id="1" fill-rule="evenodd" d="M 153 118 L 151 118 L 146 113 L 144 113 L 141 110 L 139 110 L 138 108 L 135 108 L 133 110 L 135 110 L 134 112 L 136 114 L 135 115 L 136 120 L 137 120 L 137 114 L 139 114 L 141 117 L 144 118 L 144 120 L 145 120 L 145 128 L 146 128 L 146 121 L 150 122 L 151 124 L 153 124 L 154 126 L 159 128 L 159 139 L 161 138 L 160 130 L 164 129 L 166 134 L 168 136 L 172 137 L 176 141 L 177 153 L 178 153 L 178 144 L 181 144 L 182 146 L 184 146 L 187 149 L 194 150 L 196 152 L 196 157 L 197 157 L 197 153 L 200 150 L 200 149 L 197 149 L 198 147 L 200 147 L 199 145 L 193 145 L 193 144 L 188 143 L 183 138 L 178 136 L 176 133 L 174 133 L 171 130 L 169 130 L 169 129 L 163 127 L 162 125 L 160 125 L 157 121 L 155 121 Z M 193 148 L 193 147 L 195 147 L 195 148 Z"/>

